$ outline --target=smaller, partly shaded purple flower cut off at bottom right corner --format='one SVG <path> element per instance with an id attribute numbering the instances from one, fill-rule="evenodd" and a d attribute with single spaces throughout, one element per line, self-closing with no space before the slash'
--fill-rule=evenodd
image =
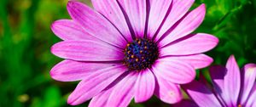
<path id="1" fill-rule="evenodd" d="M 213 87 L 204 80 L 184 85 L 195 104 L 200 107 L 256 107 L 255 64 L 247 64 L 240 71 L 231 55 L 225 67 L 212 66 L 210 75 Z"/>

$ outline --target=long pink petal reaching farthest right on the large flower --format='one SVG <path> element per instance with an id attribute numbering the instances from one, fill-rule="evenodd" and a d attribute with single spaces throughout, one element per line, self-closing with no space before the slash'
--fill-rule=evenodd
<path id="1" fill-rule="evenodd" d="M 218 38 L 209 34 L 198 33 L 189 35 L 177 42 L 161 48 L 160 55 L 188 55 L 195 53 L 204 53 L 218 44 Z"/>

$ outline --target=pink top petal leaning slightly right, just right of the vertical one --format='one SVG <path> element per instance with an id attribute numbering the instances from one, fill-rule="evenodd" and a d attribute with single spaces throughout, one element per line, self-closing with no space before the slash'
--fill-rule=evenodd
<path id="1" fill-rule="evenodd" d="M 168 9 L 172 7 L 172 0 L 151 0 L 150 12 L 148 16 L 148 37 L 153 38 L 160 24 L 165 21 L 164 18 Z"/>

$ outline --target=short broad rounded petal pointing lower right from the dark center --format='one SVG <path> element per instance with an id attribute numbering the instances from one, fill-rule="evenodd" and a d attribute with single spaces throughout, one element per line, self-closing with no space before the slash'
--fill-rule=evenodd
<path id="1" fill-rule="evenodd" d="M 152 70 L 155 75 L 177 84 L 188 83 L 195 79 L 194 67 L 176 59 L 158 59 Z"/>

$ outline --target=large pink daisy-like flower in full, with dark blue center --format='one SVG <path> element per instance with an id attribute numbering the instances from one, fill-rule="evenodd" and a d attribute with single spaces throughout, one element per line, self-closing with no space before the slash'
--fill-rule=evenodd
<path id="1" fill-rule="evenodd" d="M 72 20 L 51 26 L 63 42 L 51 52 L 63 59 L 50 71 L 57 81 L 80 81 L 67 99 L 77 105 L 127 106 L 154 94 L 173 104 L 182 99 L 179 84 L 191 82 L 195 69 L 210 65 L 205 54 L 218 38 L 190 34 L 201 25 L 204 4 L 194 0 L 92 0 L 92 9 L 69 1 Z"/>

